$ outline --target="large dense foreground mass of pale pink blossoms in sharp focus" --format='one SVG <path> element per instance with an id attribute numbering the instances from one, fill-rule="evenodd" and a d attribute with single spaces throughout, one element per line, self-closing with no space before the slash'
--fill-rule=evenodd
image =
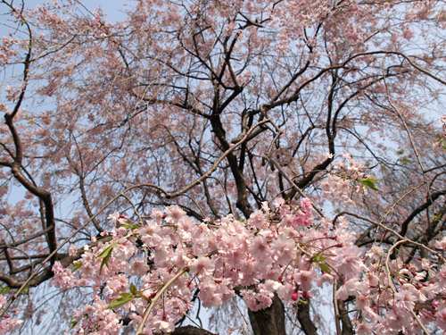
<path id="1" fill-rule="evenodd" d="M 143 333 L 169 332 L 196 294 L 206 307 L 237 294 L 258 311 L 275 294 L 293 305 L 324 283 L 336 285 L 339 300 L 355 298 L 359 334 L 417 333 L 430 322 L 446 330 L 446 265 L 386 261 L 377 246 L 364 254 L 349 222 L 316 221 L 308 198 L 295 207 L 264 203 L 246 222 L 195 222 L 177 205 L 153 209 L 151 219 L 141 225 L 113 214 L 106 242 L 85 247 L 70 268 L 54 264 L 55 286 L 93 288 L 92 304 L 72 315 L 72 334 L 118 335 L 124 318 L 138 327 L 149 305 Z"/>

